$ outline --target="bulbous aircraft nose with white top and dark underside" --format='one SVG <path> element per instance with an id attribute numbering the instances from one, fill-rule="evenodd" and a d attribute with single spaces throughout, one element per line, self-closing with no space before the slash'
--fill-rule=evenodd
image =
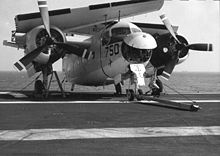
<path id="1" fill-rule="evenodd" d="M 124 38 L 122 55 L 129 63 L 144 63 L 150 60 L 156 40 L 147 33 L 132 33 Z"/>

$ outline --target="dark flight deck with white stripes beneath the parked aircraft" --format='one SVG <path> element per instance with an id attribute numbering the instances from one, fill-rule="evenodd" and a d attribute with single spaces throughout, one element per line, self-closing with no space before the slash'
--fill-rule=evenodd
<path id="1" fill-rule="evenodd" d="M 25 95 L 25 96 L 22 96 Z M 1 155 L 219 155 L 220 95 L 170 94 L 197 112 L 128 102 L 113 93 L 0 95 Z"/>

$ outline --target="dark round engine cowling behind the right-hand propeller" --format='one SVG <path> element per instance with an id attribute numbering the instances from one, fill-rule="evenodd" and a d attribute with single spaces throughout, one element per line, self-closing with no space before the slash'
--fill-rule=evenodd
<path id="1" fill-rule="evenodd" d="M 177 38 L 181 43 L 188 45 L 187 40 L 180 35 L 177 35 Z M 153 51 L 151 57 L 151 64 L 156 67 L 165 67 L 174 57 L 178 54 L 178 43 L 170 34 L 157 35 L 155 36 L 157 41 L 157 48 Z M 184 62 L 189 55 L 188 49 L 179 50 L 179 55 L 176 64 Z"/>

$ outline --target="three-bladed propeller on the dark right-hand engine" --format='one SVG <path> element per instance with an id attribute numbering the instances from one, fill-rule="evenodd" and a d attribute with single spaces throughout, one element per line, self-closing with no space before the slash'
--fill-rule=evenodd
<path id="1" fill-rule="evenodd" d="M 172 58 L 172 60 L 165 66 L 164 71 L 162 73 L 162 77 L 165 79 L 169 79 L 171 73 L 173 72 L 173 69 L 176 66 L 176 63 L 178 62 L 179 54 L 180 51 L 182 50 L 198 50 L 198 51 L 212 51 L 212 44 L 207 44 L 207 43 L 197 43 L 197 44 L 184 44 L 181 43 L 180 40 L 177 38 L 176 33 L 173 30 L 173 27 L 169 21 L 169 19 L 166 17 L 165 14 L 160 16 L 162 22 L 164 23 L 165 27 L 167 30 L 170 32 L 170 34 L 173 36 L 173 38 L 177 41 L 176 45 L 176 53 L 174 54 L 175 56 Z"/>

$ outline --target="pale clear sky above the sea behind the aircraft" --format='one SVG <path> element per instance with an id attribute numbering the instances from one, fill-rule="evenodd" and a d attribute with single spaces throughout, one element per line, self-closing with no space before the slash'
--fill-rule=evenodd
<path id="1" fill-rule="evenodd" d="M 49 10 L 77 8 L 112 0 L 48 0 Z M 114 0 L 120 1 L 120 0 Z M 159 16 L 167 15 L 172 25 L 179 26 L 178 34 L 189 43 L 212 43 L 213 52 L 190 51 L 189 58 L 178 65 L 175 71 L 220 72 L 220 1 L 189 0 L 165 1 L 161 10 L 125 19 L 144 23 L 162 24 Z M 38 11 L 37 0 L 0 0 L 0 71 L 15 71 L 13 64 L 23 57 L 23 50 L 5 47 L 15 29 L 14 17 L 21 13 Z M 61 61 L 54 65 L 61 70 Z"/>

